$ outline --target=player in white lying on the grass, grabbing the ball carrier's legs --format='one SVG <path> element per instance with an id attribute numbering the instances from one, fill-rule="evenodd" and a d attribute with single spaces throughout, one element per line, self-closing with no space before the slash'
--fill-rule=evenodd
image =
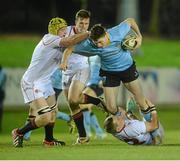
<path id="1" fill-rule="evenodd" d="M 134 100 L 130 99 L 127 103 L 128 112 L 119 108 L 120 115 L 108 116 L 104 121 L 105 130 L 117 139 L 132 145 L 157 145 L 162 143 L 163 128 L 158 121 L 156 109 L 151 110 L 151 121 L 140 121 L 131 112 L 129 105 Z M 150 104 L 150 102 L 147 102 Z M 150 106 L 153 106 L 150 104 Z M 132 108 L 132 107 L 131 107 Z M 152 133 L 156 130 L 156 133 Z"/>

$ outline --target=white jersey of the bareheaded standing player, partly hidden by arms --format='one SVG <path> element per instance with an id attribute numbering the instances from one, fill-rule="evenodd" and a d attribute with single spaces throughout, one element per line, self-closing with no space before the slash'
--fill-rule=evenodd
<path id="1" fill-rule="evenodd" d="M 68 26 L 66 37 L 76 34 L 75 26 Z M 79 54 L 72 54 L 68 60 L 68 69 L 63 73 L 69 73 L 70 71 L 83 69 L 89 67 L 88 57 Z"/>

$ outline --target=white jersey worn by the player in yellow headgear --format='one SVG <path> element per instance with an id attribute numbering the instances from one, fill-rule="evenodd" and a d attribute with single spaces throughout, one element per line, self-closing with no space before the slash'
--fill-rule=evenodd
<path id="1" fill-rule="evenodd" d="M 34 49 L 30 65 L 23 75 L 29 83 L 50 81 L 50 76 L 57 69 L 62 58 L 61 38 L 46 34 Z"/>

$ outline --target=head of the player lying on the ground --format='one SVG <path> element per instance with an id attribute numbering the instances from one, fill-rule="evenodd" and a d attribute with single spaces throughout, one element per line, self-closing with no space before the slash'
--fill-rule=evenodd
<path id="1" fill-rule="evenodd" d="M 111 115 L 104 121 L 104 129 L 106 132 L 114 134 L 122 129 L 122 117 Z"/>

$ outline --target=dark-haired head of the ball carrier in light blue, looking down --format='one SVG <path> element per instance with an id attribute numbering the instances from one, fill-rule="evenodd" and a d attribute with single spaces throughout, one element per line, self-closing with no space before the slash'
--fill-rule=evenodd
<path id="1" fill-rule="evenodd" d="M 106 29 L 100 24 L 91 28 L 90 39 L 99 48 L 106 47 L 110 42 Z"/>

